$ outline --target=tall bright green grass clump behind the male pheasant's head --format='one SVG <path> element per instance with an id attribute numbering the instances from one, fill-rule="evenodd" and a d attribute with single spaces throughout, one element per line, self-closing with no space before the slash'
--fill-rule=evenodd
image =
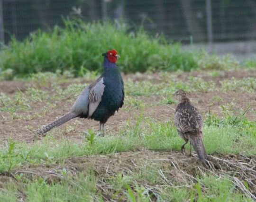
<path id="1" fill-rule="evenodd" d="M 20 42 L 14 37 L 0 51 L 0 74 L 11 71 L 22 77 L 41 71 L 70 70 L 81 76 L 88 70 L 100 70 L 101 53 L 118 50 L 119 67 L 124 72 L 146 70 L 191 70 L 197 64 L 192 53 L 181 53 L 179 44 L 169 44 L 164 36 L 153 37 L 140 27 L 113 22 L 85 23 L 64 20 L 64 28 L 31 33 Z"/>

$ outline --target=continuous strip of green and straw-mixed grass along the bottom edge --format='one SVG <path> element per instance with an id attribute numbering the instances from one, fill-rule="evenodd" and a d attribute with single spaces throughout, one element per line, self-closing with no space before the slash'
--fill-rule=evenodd
<path id="1" fill-rule="evenodd" d="M 169 175 L 165 164 L 148 163 L 141 167 L 139 173 L 130 171 L 99 176 L 93 171 L 87 171 L 77 172 L 75 176 L 62 175 L 61 180 L 41 176 L 27 179 L 20 174 L 16 175 L 16 181 L 2 183 L 0 200 L 16 202 L 23 198 L 27 202 L 103 202 L 104 197 L 107 197 L 113 201 L 128 202 L 149 202 L 150 199 L 156 199 L 157 202 L 252 202 L 252 199 L 237 189 L 229 176 L 197 176 L 197 182 L 191 182 L 189 187 L 178 179 Z"/>

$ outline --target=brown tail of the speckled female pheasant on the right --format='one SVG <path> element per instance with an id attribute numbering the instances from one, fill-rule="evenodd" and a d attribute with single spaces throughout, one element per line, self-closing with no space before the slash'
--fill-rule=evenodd
<path id="1" fill-rule="evenodd" d="M 202 141 L 201 134 L 190 135 L 189 141 L 191 142 L 193 148 L 195 149 L 198 158 L 205 163 L 206 151 Z"/>

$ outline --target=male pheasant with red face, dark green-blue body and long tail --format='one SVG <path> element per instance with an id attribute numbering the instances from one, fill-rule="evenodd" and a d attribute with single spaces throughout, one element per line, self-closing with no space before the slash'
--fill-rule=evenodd
<path id="1" fill-rule="evenodd" d="M 46 125 L 37 134 L 48 132 L 75 117 L 99 121 L 100 130 L 103 129 L 103 135 L 106 133 L 104 124 L 123 106 L 125 95 L 124 82 L 116 64 L 119 58 L 117 51 L 110 50 L 102 55 L 104 56 L 103 74 L 82 90 L 67 114 Z"/>

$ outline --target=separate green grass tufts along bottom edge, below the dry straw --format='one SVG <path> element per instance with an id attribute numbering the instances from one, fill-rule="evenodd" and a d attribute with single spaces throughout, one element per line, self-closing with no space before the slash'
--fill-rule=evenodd
<path id="1" fill-rule="evenodd" d="M 150 172 L 150 171 L 146 171 Z M 145 175 L 143 173 L 142 175 Z M 150 172 L 152 175 L 152 171 Z M 146 174 L 147 175 L 147 174 Z M 154 175 L 154 174 L 153 174 Z M 161 176 L 155 173 L 155 177 Z M 129 202 L 149 202 L 150 190 L 144 186 L 137 185 L 133 191 L 128 184 L 136 181 L 136 176 L 113 176 L 111 177 L 110 184 L 117 186 L 116 193 L 112 196 L 115 199 L 116 195 L 121 195 L 123 198 L 127 196 Z M 33 182 L 29 182 L 26 186 L 22 187 L 23 193 L 26 193 L 27 202 L 51 202 L 53 201 L 103 201 L 103 193 L 96 193 L 96 183 L 100 181 L 97 176 L 91 173 L 79 173 L 75 178 L 66 177 L 61 183 L 47 183 L 46 180 L 39 178 Z M 147 181 L 147 180 L 146 180 Z M 74 183 L 76 182 L 76 183 Z M 147 183 L 152 183 L 148 180 Z M 199 182 L 205 184 L 206 192 L 201 193 L 198 198 L 199 201 L 250 201 L 243 194 L 234 191 L 235 186 L 228 178 L 220 178 L 214 176 L 205 176 Z M 213 183 L 214 182 L 214 183 Z M 154 183 L 153 183 L 154 184 Z M 20 199 L 17 195 L 17 184 L 9 183 L 7 193 L 2 193 L 0 199 L 6 202 L 15 202 Z M 194 184 L 194 187 L 201 186 L 200 183 Z M 188 188 L 171 188 L 170 185 L 165 184 L 163 193 L 159 196 L 159 202 L 172 201 L 181 202 L 189 199 L 191 196 L 196 195 L 196 191 Z M 68 192 L 66 190 L 69 190 Z M 170 194 L 171 193 L 171 194 Z"/>

